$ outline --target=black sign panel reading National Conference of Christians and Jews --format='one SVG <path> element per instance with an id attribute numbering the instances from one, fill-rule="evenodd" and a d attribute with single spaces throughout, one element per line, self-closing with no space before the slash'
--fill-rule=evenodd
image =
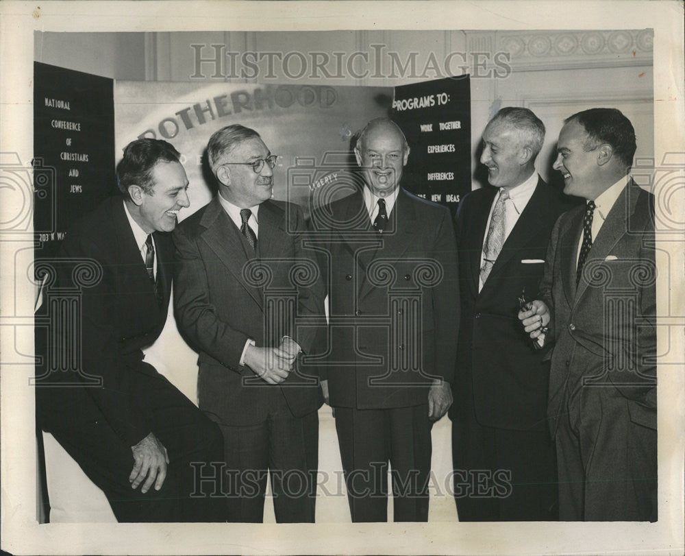
<path id="1" fill-rule="evenodd" d="M 116 191 L 114 82 L 35 62 L 36 258 L 55 254 L 69 225 Z"/>

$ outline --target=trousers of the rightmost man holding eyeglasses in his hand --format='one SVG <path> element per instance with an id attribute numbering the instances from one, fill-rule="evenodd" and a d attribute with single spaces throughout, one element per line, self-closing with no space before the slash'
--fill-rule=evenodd
<path id="1" fill-rule="evenodd" d="M 611 386 L 584 387 L 556 433 L 562 521 L 657 520 L 656 430 Z"/>

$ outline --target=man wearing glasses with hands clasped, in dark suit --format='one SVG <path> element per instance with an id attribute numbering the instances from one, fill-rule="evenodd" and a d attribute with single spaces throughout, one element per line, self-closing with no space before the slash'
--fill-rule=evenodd
<path id="1" fill-rule="evenodd" d="M 223 432 L 229 519 L 263 520 L 271 470 L 276 520 L 313 522 L 323 397 L 296 359 L 323 296 L 303 215 L 271 200 L 277 157 L 256 131 L 228 125 L 207 152 L 219 194 L 173 234 L 175 310 L 200 352 L 200 408 Z"/>

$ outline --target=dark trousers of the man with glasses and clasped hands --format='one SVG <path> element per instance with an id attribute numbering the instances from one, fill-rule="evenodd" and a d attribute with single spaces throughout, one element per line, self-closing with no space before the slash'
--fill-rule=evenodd
<path id="1" fill-rule="evenodd" d="M 280 389 L 272 390 L 271 411 L 266 421 L 248 426 L 220 425 L 225 447 L 228 520 L 264 521 L 266 480 L 271 474 L 276 521 L 313 523 L 319 468 L 319 415 L 313 411 L 294 417 Z"/>

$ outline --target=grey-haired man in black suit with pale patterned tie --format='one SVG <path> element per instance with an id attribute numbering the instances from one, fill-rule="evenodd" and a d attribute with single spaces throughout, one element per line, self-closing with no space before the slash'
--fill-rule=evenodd
<path id="1" fill-rule="evenodd" d="M 527 108 L 499 110 L 480 158 L 493 187 L 466 195 L 457 215 L 462 313 L 450 417 L 460 521 L 555 518 L 549 363 L 516 319 L 523 291 L 538 290 L 563 210 L 535 170 L 544 139 Z"/>

